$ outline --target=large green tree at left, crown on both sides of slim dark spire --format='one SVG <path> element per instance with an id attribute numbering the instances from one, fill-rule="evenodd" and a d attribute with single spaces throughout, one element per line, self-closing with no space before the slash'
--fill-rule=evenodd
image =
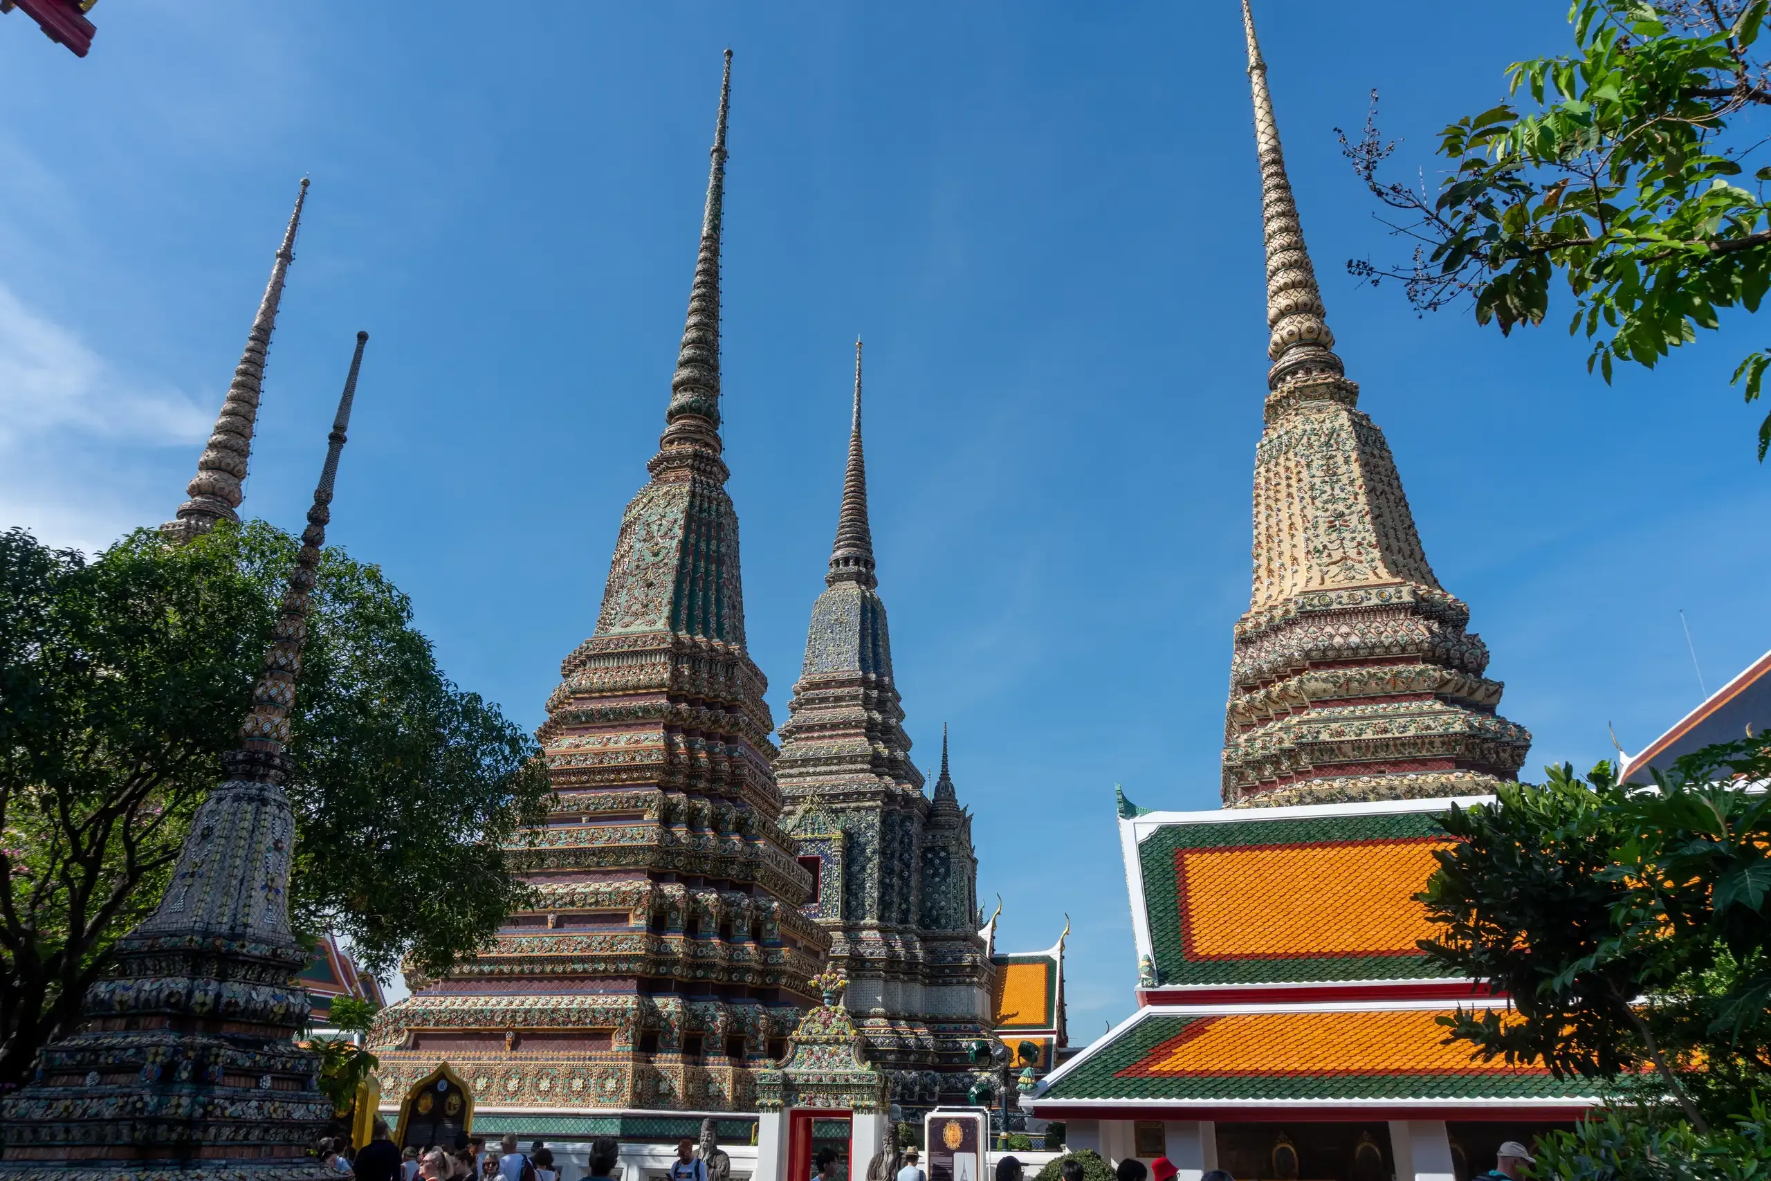
<path id="1" fill-rule="evenodd" d="M 78 1018 L 221 776 L 298 542 L 264 524 L 94 560 L 0 535 L 0 1085 Z M 290 917 L 386 976 L 446 970 L 526 891 L 501 845 L 535 744 L 450 683 L 411 602 L 328 551 L 296 691 Z M 446 905 L 445 905 L 446 899 Z"/>

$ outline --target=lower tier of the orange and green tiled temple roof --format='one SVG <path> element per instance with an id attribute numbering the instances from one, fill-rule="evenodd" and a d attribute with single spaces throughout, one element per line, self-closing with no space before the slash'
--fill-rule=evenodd
<path id="1" fill-rule="evenodd" d="M 1139 1009 L 1047 1077 L 1043 1119 L 1066 1103 L 1164 1107 L 1582 1108 L 1599 1101 L 1582 1078 L 1543 1066 L 1473 1059 L 1445 1045 L 1452 1006 L 1162 1006 Z M 1086 1110 L 1079 1108 L 1077 1114 Z"/>

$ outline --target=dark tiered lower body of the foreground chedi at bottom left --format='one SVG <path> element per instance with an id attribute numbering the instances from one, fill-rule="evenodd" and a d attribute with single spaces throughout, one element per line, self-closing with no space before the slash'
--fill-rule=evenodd
<path id="1" fill-rule="evenodd" d="M 250 756 L 234 756 L 250 758 Z M 294 816 L 282 786 L 230 779 L 197 813 L 159 910 L 87 992 L 80 1032 L 4 1103 L 0 1177 L 319 1181 L 331 1117 L 298 1046 L 308 954 L 285 901 Z M 232 896 L 250 882 L 264 898 Z"/>

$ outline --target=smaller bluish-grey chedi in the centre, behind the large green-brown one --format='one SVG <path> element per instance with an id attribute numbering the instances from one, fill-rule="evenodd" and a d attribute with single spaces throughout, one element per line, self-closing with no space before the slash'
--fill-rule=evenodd
<path id="1" fill-rule="evenodd" d="M 963 1101 L 965 1046 L 990 1036 L 994 969 L 978 935 L 978 857 L 942 738 L 935 799 L 910 761 L 878 597 L 861 446 L 861 343 L 848 467 L 825 590 L 781 726 L 785 825 L 816 857 L 813 910 L 871 1061 L 907 1107 Z"/>

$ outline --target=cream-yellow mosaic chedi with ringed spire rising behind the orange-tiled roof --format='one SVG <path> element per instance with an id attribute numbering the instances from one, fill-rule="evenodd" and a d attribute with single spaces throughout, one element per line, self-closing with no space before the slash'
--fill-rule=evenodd
<path id="1" fill-rule="evenodd" d="M 1254 586 L 1236 623 L 1224 726 L 1229 806 L 1477 795 L 1512 779 L 1530 735 L 1470 607 L 1427 565 L 1383 432 L 1334 352 L 1249 39 L 1266 235 L 1268 397 L 1254 467 Z"/>

